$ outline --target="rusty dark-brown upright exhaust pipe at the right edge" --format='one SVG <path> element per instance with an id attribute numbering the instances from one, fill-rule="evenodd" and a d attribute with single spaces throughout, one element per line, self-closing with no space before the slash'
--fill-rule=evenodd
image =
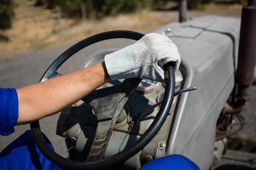
<path id="1" fill-rule="evenodd" d="M 236 74 L 237 99 L 249 100 L 249 87 L 253 83 L 256 64 L 256 1 L 248 0 L 241 15 L 239 55 Z"/>

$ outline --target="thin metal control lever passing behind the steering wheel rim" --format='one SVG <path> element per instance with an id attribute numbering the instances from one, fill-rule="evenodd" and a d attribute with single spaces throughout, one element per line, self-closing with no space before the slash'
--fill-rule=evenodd
<path id="1" fill-rule="evenodd" d="M 185 93 L 185 92 L 194 91 L 196 89 L 197 88 L 195 86 L 190 87 L 190 88 L 184 88 L 182 90 L 179 90 L 179 91 L 175 92 L 174 96 L 177 96 L 177 95 Z M 160 105 L 162 102 L 163 102 L 163 100 L 157 102 L 154 105 L 151 105 L 149 108 L 145 109 L 144 111 L 141 111 L 140 113 L 134 115 L 134 117 L 132 118 L 132 121 L 136 123 L 138 121 L 138 117 L 142 116 L 143 114 L 147 113 L 148 111 L 151 111 L 152 109 L 154 109 L 155 107 Z"/>

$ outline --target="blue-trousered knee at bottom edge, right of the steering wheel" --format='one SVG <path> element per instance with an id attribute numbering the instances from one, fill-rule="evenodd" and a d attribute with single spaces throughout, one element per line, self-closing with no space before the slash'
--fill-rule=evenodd
<path id="1" fill-rule="evenodd" d="M 149 161 L 140 170 L 200 170 L 200 168 L 185 156 L 175 154 Z"/>

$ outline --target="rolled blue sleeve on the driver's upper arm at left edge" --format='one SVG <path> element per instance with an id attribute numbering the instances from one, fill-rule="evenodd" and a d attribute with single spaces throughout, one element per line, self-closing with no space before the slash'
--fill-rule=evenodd
<path id="1" fill-rule="evenodd" d="M 0 135 L 12 134 L 19 114 L 18 95 L 15 88 L 0 88 Z"/>

